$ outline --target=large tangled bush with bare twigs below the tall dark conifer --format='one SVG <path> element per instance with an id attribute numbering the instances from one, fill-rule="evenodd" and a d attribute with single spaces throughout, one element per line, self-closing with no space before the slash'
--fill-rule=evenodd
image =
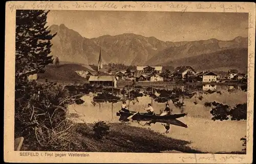
<path id="1" fill-rule="evenodd" d="M 62 150 L 69 146 L 72 133 L 67 119 L 68 104 L 81 102 L 70 97 L 60 85 L 23 81 L 15 88 L 15 137 L 33 142 L 33 150 Z M 26 143 L 25 143 L 26 144 Z"/>

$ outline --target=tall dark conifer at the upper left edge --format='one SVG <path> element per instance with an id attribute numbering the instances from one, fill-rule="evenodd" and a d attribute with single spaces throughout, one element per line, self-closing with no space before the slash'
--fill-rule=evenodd
<path id="1" fill-rule="evenodd" d="M 46 65 L 53 62 L 50 34 L 44 10 L 16 11 L 15 79 L 25 79 L 35 73 L 44 73 Z"/>

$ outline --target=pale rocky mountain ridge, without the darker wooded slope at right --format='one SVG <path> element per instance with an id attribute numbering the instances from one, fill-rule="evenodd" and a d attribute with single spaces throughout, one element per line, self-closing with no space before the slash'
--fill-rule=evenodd
<path id="1" fill-rule="evenodd" d="M 78 32 L 68 29 L 65 24 L 51 25 L 53 38 L 51 55 L 60 61 L 97 64 L 99 51 L 103 63 L 125 65 L 172 65 L 173 61 L 197 57 L 224 49 L 247 48 L 248 38 L 236 37 L 229 41 L 218 39 L 198 41 L 161 41 L 155 37 L 144 37 L 133 33 L 115 36 L 103 35 L 84 38 Z"/>

